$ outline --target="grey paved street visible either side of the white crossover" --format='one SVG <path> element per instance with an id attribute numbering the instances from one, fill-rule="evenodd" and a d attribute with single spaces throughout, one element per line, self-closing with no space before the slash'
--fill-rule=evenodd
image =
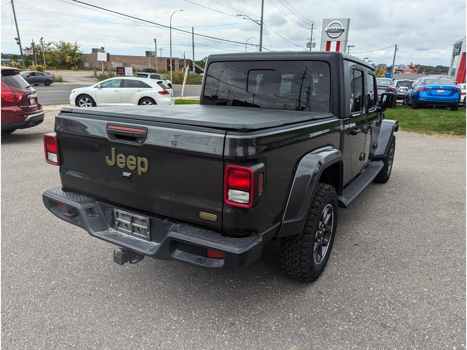
<path id="1" fill-rule="evenodd" d="M 95 83 L 95 82 L 94 82 Z M 77 87 L 90 86 L 90 84 L 82 83 L 53 83 L 50 86 L 34 86 L 37 91 L 39 102 L 43 106 L 69 105 L 70 92 Z M 173 85 L 173 95 L 175 98 L 181 96 L 182 85 Z M 196 96 L 199 98 L 201 86 L 188 85 L 185 86 L 183 96 Z"/>

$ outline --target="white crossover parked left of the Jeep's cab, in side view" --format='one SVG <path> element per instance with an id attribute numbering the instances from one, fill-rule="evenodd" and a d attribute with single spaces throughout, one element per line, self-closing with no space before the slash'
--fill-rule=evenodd
<path id="1" fill-rule="evenodd" d="M 174 104 L 173 93 L 162 81 L 137 77 L 116 77 L 78 87 L 70 104 L 78 107 Z"/>

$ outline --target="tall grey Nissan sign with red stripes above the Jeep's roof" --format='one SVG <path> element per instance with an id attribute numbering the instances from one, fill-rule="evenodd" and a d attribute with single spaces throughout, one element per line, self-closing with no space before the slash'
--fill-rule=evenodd
<path id="1" fill-rule="evenodd" d="M 350 18 L 325 18 L 321 36 L 321 51 L 345 52 Z"/>

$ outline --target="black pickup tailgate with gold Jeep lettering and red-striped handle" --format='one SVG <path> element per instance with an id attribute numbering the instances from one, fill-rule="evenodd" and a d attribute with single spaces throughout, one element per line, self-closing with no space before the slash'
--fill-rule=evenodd
<path id="1" fill-rule="evenodd" d="M 222 228 L 225 132 L 70 112 L 55 125 L 65 189 Z"/>

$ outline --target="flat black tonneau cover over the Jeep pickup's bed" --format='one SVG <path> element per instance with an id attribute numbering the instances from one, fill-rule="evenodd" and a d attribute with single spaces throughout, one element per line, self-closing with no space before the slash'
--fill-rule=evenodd
<path id="1" fill-rule="evenodd" d="M 125 118 L 129 122 L 152 121 L 178 125 L 190 125 L 233 131 L 253 131 L 274 128 L 288 124 L 305 122 L 311 119 L 330 118 L 331 113 L 282 111 L 260 108 L 222 107 L 209 105 L 179 106 L 135 106 L 62 108 L 61 114 L 79 114 L 99 119 Z"/>

